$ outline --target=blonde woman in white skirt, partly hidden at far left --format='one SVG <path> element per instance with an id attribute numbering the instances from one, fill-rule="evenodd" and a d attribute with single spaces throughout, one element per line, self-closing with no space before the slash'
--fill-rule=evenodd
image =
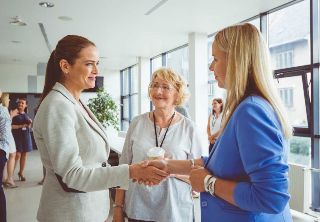
<path id="1" fill-rule="evenodd" d="M 1 96 L 1 100 L 0 102 L 2 102 L 2 105 L 6 108 L 9 108 L 9 93 L 3 93 Z M 12 120 L 13 117 L 18 115 L 18 109 L 15 110 L 11 110 L 10 111 L 10 118 Z M 10 146 L 10 154 L 9 154 L 9 160 L 7 162 L 7 173 L 8 173 L 8 178 L 5 179 L 5 167 L 3 170 L 3 176 L 2 176 L 2 185 L 6 188 L 17 188 L 18 186 L 16 186 L 14 184 L 13 181 L 13 171 L 14 171 L 14 160 L 16 158 L 16 144 L 14 142 L 13 139 L 13 135 L 12 132 L 10 131 L 10 140 L 9 140 L 9 146 Z"/>

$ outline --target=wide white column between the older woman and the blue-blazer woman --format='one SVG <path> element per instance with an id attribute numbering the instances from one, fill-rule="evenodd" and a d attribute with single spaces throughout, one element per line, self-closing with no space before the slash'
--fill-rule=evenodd
<path id="1" fill-rule="evenodd" d="M 189 34 L 189 114 L 197 124 L 204 155 L 208 154 L 208 35 Z"/>

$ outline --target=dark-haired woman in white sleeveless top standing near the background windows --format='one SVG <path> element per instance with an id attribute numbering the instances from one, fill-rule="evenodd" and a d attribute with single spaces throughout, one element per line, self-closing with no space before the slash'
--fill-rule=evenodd
<path id="1" fill-rule="evenodd" d="M 221 98 L 215 98 L 212 100 L 212 113 L 209 115 L 207 133 L 209 145 L 209 153 L 211 152 L 214 143 L 220 134 L 221 120 L 223 111 L 223 100 Z"/>

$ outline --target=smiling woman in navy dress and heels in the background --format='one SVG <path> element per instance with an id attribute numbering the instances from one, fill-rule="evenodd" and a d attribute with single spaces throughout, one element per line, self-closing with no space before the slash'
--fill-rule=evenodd
<path id="1" fill-rule="evenodd" d="M 18 110 L 19 115 L 12 119 L 12 134 L 17 148 L 14 169 L 17 167 L 18 160 L 20 159 L 20 170 L 18 176 L 21 181 L 26 181 L 26 178 L 23 175 L 23 170 L 26 166 L 27 153 L 33 149 L 30 136 L 32 120 L 28 115 L 28 100 L 26 98 L 20 98 L 18 102 Z"/>

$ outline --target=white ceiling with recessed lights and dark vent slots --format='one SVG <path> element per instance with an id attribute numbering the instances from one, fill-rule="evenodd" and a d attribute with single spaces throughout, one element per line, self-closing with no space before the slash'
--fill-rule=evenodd
<path id="1" fill-rule="evenodd" d="M 188 43 L 188 34 L 212 34 L 288 0 L 168 0 L 144 15 L 161 0 L 50 0 L 43 8 L 35 0 L 0 0 L 0 64 L 36 65 L 50 53 L 39 27 L 43 23 L 52 49 L 68 34 L 93 41 L 102 68 L 120 70 L 136 63 L 137 56 L 153 57 Z M 19 15 L 27 26 L 9 24 Z M 68 16 L 72 21 L 61 21 Z M 12 43 L 11 41 L 21 41 Z M 14 62 L 20 59 L 20 62 Z"/>

